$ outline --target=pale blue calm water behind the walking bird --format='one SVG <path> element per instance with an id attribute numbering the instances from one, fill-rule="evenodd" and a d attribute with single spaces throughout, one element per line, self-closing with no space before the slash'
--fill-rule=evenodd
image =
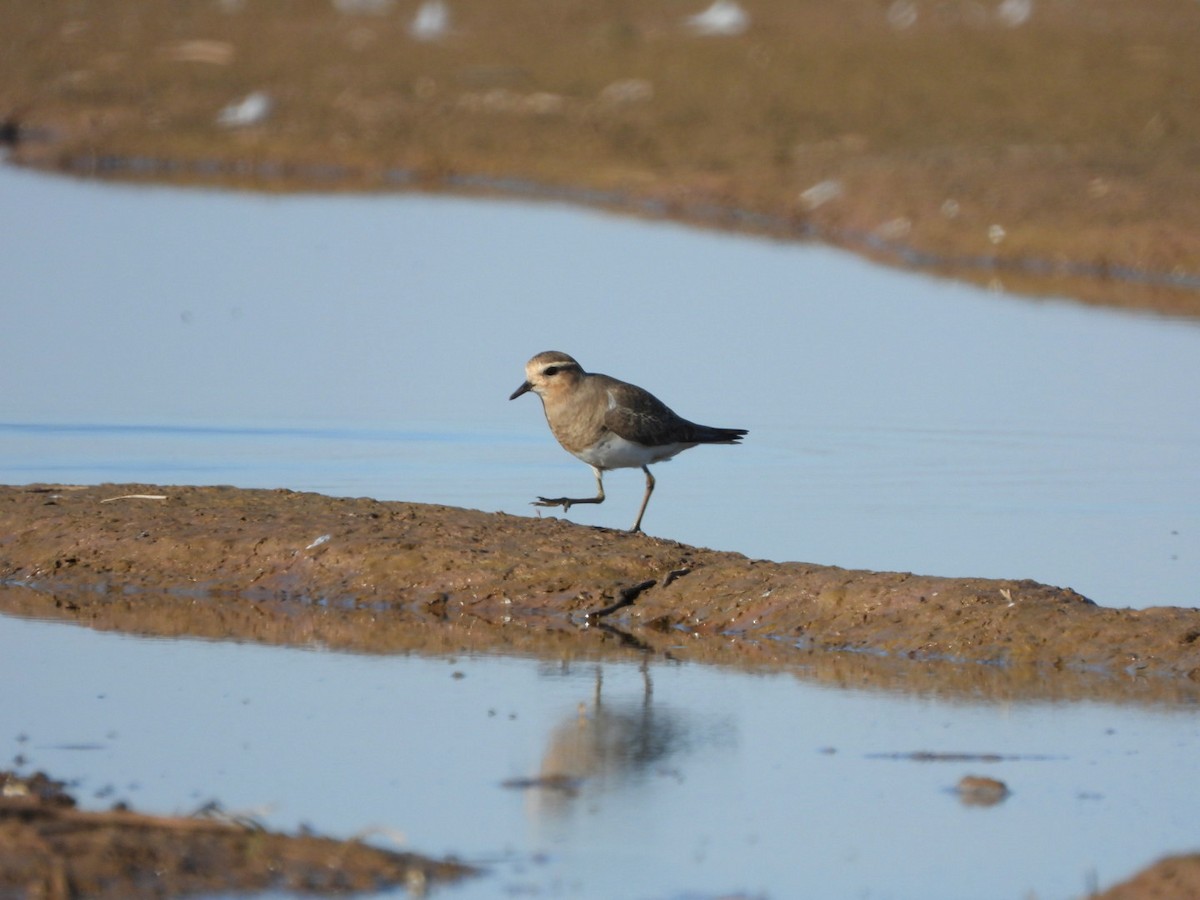
<path id="1" fill-rule="evenodd" d="M 534 515 L 587 496 L 563 349 L 739 448 L 658 467 L 652 534 L 752 557 L 1200 605 L 1200 328 L 817 246 L 552 205 L 262 197 L 0 167 L 0 480 L 292 487 Z M 626 528 L 636 470 L 570 517 Z"/>

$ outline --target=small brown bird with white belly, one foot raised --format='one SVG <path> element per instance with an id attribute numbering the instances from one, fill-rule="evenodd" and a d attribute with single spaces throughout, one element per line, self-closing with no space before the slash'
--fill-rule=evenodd
<path id="1" fill-rule="evenodd" d="M 569 454 L 578 457 L 596 476 L 595 497 L 539 497 L 534 506 L 604 503 L 604 473 L 641 468 L 646 493 L 634 520 L 632 533 L 642 530 L 646 504 L 654 493 L 649 466 L 670 460 L 697 444 L 740 444 L 745 428 L 714 428 L 677 415 L 666 403 L 635 384 L 598 372 L 584 372 L 571 356 L 558 350 L 539 353 L 526 364 L 526 379 L 509 400 L 533 391 L 541 398 L 551 432 Z"/>

